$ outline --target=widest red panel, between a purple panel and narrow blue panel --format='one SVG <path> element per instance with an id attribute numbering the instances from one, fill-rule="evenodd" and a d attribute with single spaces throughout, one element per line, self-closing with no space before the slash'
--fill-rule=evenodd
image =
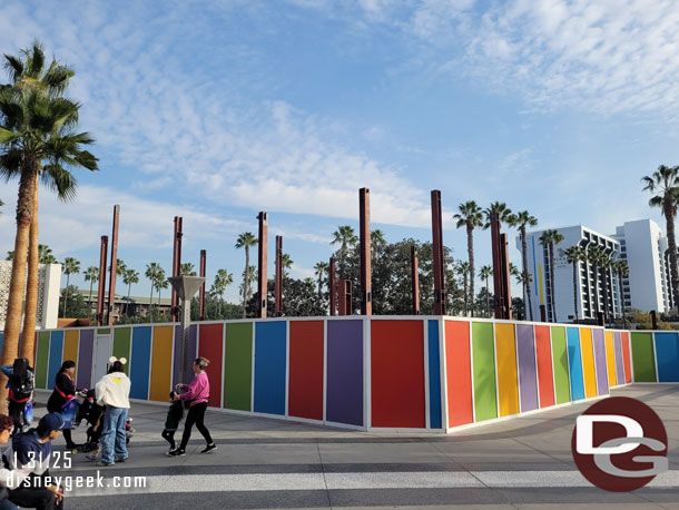
<path id="1" fill-rule="evenodd" d="M 372 426 L 424 429 L 422 321 L 371 321 Z"/>

